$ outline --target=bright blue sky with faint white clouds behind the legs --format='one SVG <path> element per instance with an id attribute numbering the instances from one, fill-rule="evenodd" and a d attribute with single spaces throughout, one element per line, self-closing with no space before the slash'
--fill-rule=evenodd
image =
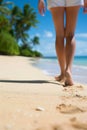
<path id="1" fill-rule="evenodd" d="M 10 0 L 11 1 L 11 0 Z M 52 20 L 52 15 L 49 10 L 46 10 L 44 16 L 38 12 L 38 0 L 12 0 L 20 8 L 24 4 L 29 3 L 37 13 L 39 24 L 37 28 L 31 28 L 28 33 L 31 38 L 35 35 L 40 39 L 40 45 L 35 46 L 44 56 L 56 56 L 55 52 L 55 28 Z M 47 5 L 47 4 L 46 4 Z M 80 9 L 76 31 L 76 56 L 87 56 L 87 14 L 83 13 L 83 8 Z"/>

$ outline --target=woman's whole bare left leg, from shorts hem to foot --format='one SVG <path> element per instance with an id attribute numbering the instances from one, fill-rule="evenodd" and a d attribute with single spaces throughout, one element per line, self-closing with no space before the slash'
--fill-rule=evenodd
<path id="1" fill-rule="evenodd" d="M 51 13 L 56 30 L 56 53 L 60 65 L 61 74 L 55 77 L 57 81 L 61 81 L 65 76 L 65 47 L 64 47 L 64 7 L 51 8 Z"/>

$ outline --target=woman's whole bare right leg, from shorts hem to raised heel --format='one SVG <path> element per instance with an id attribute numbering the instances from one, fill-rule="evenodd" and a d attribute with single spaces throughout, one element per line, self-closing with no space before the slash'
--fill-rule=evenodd
<path id="1" fill-rule="evenodd" d="M 74 33 L 79 8 L 79 6 L 66 8 L 66 85 L 73 85 L 71 68 L 76 46 Z"/>

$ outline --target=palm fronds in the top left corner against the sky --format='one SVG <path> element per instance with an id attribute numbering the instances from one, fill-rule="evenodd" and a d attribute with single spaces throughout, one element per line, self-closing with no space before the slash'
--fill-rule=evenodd
<path id="1" fill-rule="evenodd" d="M 8 5 L 12 5 L 12 2 L 4 2 L 4 0 L 0 0 L 0 14 L 9 15 L 11 13 L 10 9 L 8 8 Z"/>

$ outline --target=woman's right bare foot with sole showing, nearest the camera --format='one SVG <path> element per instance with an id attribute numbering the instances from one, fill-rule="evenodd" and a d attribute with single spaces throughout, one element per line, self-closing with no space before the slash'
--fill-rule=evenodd
<path id="1" fill-rule="evenodd" d="M 72 86 L 74 85 L 72 77 L 71 77 L 71 73 L 66 71 L 65 73 L 65 86 Z"/>

